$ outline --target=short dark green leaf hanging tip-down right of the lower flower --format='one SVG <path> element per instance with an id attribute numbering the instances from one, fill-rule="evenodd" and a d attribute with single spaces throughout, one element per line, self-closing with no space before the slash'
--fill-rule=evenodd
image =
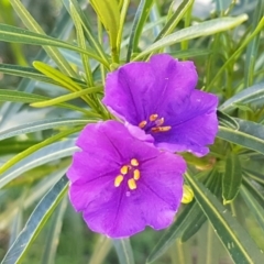
<path id="1" fill-rule="evenodd" d="M 242 182 L 242 169 L 239 156 L 229 154 L 226 161 L 226 172 L 222 177 L 223 205 L 234 200 L 239 194 Z"/>

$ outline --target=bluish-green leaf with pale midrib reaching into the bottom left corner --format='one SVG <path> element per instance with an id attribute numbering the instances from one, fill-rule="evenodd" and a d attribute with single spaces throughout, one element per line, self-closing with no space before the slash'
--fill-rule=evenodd
<path id="1" fill-rule="evenodd" d="M 24 229 L 3 257 L 1 264 L 21 263 L 31 243 L 43 229 L 45 222 L 66 194 L 67 187 L 68 179 L 64 176 L 43 197 L 25 223 Z"/>

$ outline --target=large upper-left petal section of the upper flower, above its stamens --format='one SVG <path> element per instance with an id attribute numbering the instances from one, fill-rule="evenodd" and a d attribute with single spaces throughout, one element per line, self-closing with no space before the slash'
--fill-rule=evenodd
<path id="1" fill-rule="evenodd" d="M 188 95 L 196 82 L 193 62 L 160 54 L 148 63 L 130 63 L 109 74 L 102 101 L 114 114 L 138 125 L 160 112 L 172 98 Z"/>

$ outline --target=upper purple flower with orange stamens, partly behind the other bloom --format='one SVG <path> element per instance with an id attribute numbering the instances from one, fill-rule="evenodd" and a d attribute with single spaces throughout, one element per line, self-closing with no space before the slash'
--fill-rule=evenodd
<path id="1" fill-rule="evenodd" d="M 218 98 L 196 90 L 197 79 L 193 62 L 160 54 L 109 74 L 102 101 L 135 136 L 131 125 L 152 135 L 157 147 L 202 156 L 218 131 Z"/>

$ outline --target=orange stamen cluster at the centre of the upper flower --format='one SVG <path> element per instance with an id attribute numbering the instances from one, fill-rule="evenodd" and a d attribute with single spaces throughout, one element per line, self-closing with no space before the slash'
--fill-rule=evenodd
<path id="1" fill-rule="evenodd" d="M 172 129 L 170 125 L 163 125 L 164 118 L 158 118 L 157 113 L 153 113 L 148 117 L 148 121 L 143 120 L 139 123 L 139 127 L 144 130 L 151 130 L 153 133 L 167 132 Z"/>

